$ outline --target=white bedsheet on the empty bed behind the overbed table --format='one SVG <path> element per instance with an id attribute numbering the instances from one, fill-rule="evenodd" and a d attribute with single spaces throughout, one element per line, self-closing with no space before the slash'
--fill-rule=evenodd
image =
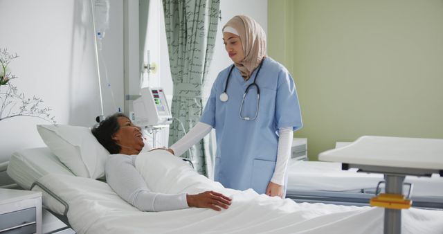
<path id="1" fill-rule="evenodd" d="M 356 172 L 355 168 L 341 170 L 341 163 L 322 161 L 289 161 L 288 186 L 291 190 L 316 190 L 345 192 L 374 189 L 383 180 L 383 174 Z M 443 177 L 407 176 L 405 182 L 413 183 L 413 197 L 443 197 Z"/>

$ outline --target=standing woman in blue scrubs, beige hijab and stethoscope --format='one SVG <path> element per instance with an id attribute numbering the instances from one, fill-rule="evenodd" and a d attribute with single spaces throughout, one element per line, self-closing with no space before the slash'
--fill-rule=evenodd
<path id="1" fill-rule="evenodd" d="M 251 17 L 230 19 L 223 41 L 234 64 L 217 76 L 200 122 L 168 150 L 179 156 L 215 128 L 215 181 L 284 197 L 293 131 L 302 127 L 293 78 L 266 56 L 266 35 Z"/>

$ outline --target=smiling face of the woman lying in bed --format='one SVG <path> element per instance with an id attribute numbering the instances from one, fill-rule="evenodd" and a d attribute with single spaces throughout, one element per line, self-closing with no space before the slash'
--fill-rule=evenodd
<path id="1" fill-rule="evenodd" d="M 120 129 L 112 136 L 112 139 L 122 148 L 120 154 L 138 154 L 145 146 L 141 128 L 134 125 L 125 117 L 118 117 Z"/>

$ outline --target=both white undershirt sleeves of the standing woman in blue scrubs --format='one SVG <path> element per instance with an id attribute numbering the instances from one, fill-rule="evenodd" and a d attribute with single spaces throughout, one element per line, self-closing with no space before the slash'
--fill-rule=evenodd
<path id="1" fill-rule="evenodd" d="M 174 151 L 175 156 L 180 156 L 192 145 L 195 145 L 206 134 L 213 129 L 211 125 L 206 123 L 197 123 L 195 127 L 192 127 L 188 134 L 183 136 L 177 143 L 170 146 L 170 149 Z M 277 183 L 280 186 L 284 186 L 284 178 L 287 173 L 287 165 L 291 155 L 291 145 L 293 138 L 292 127 L 282 127 L 278 129 L 278 149 L 277 149 L 277 161 L 275 162 L 275 170 L 271 181 Z"/>

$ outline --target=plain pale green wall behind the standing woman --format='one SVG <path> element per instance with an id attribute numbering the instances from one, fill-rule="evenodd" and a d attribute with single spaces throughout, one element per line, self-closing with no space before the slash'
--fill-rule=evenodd
<path id="1" fill-rule="evenodd" d="M 309 159 L 359 136 L 443 138 L 442 0 L 269 0 Z"/>

